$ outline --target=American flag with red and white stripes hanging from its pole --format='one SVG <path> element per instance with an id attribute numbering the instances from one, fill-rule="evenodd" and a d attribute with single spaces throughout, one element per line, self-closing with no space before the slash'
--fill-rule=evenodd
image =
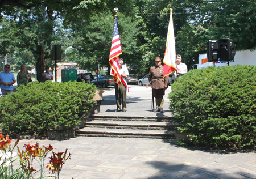
<path id="1" fill-rule="evenodd" d="M 114 82 L 117 84 L 122 84 L 119 63 L 120 54 L 122 54 L 122 48 L 118 33 L 117 15 L 115 15 L 114 33 L 109 54 L 109 65 L 111 66 L 110 75 L 113 75 Z"/>

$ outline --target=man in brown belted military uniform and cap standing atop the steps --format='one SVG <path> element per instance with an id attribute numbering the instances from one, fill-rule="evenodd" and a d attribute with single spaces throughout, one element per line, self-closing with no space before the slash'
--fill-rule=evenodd
<path id="1" fill-rule="evenodd" d="M 163 66 L 162 58 L 155 58 L 155 66 L 150 67 L 150 72 L 148 73 L 148 80 L 150 86 L 152 87 L 153 96 L 155 97 L 156 109 L 155 112 L 163 113 L 163 96 L 165 90 L 168 88 L 169 76 L 163 78 Z"/>

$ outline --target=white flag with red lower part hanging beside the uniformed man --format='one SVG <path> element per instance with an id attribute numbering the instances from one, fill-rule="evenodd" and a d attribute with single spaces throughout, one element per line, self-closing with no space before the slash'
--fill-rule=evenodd
<path id="1" fill-rule="evenodd" d="M 170 75 L 176 70 L 176 49 L 174 37 L 174 23 L 172 22 L 172 8 L 168 26 L 168 35 L 166 41 L 166 52 L 164 53 L 164 77 Z"/>

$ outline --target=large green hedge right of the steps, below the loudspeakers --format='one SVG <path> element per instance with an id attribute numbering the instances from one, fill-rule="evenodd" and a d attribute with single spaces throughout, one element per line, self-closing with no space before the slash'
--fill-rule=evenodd
<path id="1" fill-rule="evenodd" d="M 192 70 L 172 84 L 170 110 L 196 146 L 256 144 L 256 66 Z M 184 143 L 180 143 L 184 144 Z"/>

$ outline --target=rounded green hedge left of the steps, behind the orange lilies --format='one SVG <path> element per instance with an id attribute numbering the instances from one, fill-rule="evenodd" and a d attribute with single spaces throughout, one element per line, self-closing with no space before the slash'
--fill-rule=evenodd
<path id="1" fill-rule="evenodd" d="M 83 82 L 28 83 L 0 99 L 5 134 L 44 135 L 47 127 L 73 126 L 93 106 L 96 87 Z"/>

